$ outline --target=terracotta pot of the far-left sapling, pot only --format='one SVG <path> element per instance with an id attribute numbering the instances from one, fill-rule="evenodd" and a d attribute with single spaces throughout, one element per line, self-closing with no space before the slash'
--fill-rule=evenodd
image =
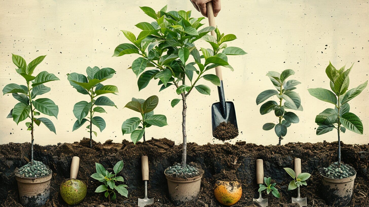
<path id="1" fill-rule="evenodd" d="M 49 200 L 50 180 L 52 172 L 45 177 L 20 177 L 15 174 L 18 181 L 19 200 L 23 206 L 42 206 Z"/>

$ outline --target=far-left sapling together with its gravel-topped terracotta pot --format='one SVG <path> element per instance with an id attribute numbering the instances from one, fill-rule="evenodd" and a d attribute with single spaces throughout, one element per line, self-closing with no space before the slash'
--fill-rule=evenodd
<path id="1" fill-rule="evenodd" d="M 23 206 L 42 206 L 49 200 L 51 169 L 44 163 L 33 159 L 34 129 L 43 123 L 50 131 L 55 131 L 54 123 L 50 119 L 38 117 L 41 113 L 57 118 L 59 108 L 51 99 L 38 98 L 38 95 L 45 94 L 51 89 L 44 84 L 50 81 L 59 80 L 54 74 L 42 71 L 36 76 L 34 69 L 40 64 L 45 56 L 40 56 L 32 60 L 28 65 L 24 58 L 12 54 L 13 63 L 18 67 L 15 69 L 26 82 L 26 85 L 8 84 L 4 87 L 3 93 L 12 94 L 19 101 L 11 109 L 7 118 L 13 118 L 15 123 L 29 118 L 25 125 L 31 131 L 31 162 L 15 170 L 15 178 L 18 182 L 20 203 Z"/>

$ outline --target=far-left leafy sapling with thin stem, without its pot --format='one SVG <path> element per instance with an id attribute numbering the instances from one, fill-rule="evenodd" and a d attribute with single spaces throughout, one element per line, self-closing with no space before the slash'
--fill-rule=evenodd
<path id="1" fill-rule="evenodd" d="M 33 142 L 34 142 L 34 127 L 40 123 L 43 123 L 50 131 L 56 134 L 54 123 L 47 118 L 36 118 L 41 113 L 55 116 L 58 118 L 59 108 L 55 105 L 54 101 L 48 98 L 38 98 L 36 96 L 45 94 L 51 89 L 44 84 L 50 81 L 57 81 L 54 74 L 42 71 L 36 76 L 33 76 L 33 72 L 38 64 L 40 64 L 46 55 L 39 56 L 35 60 L 32 60 L 28 65 L 24 58 L 19 55 L 12 54 L 13 63 L 18 67 L 15 69 L 26 81 L 27 85 L 8 84 L 3 89 L 3 94 L 12 94 L 15 99 L 19 101 L 18 104 L 10 110 L 7 118 L 13 118 L 15 123 L 24 121 L 30 118 L 30 122 L 26 122 L 25 126 L 27 130 L 31 131 L 31 164 L 33 163 Z"/>

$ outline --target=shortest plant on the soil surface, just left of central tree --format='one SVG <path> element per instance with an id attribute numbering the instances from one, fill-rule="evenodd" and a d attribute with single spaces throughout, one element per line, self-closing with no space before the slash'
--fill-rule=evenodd
<path id="1" fill-rule="evenodd" d="M 146 100 L 139 98 L 132 98 L 132 101 L 128 102 L 124 107 L 132 109 L 133 111 L 137 111 L 141 113 L 141 118 L 132 117 L 125 120 L 122 124 L 122 133 L 131 134 L 131 140 L 134 144 L 136 144 L 142 137 L 145 140 L 145 129 L 154 125 L 154 126 L 165 126 L 168 125 L 166 123 L 166 116 L 156 114 L 154 115 L 154 109 L 158 106 L 159 98 L 158 96 L 150 96 Z M 142 126 L 139 126 L 139 124 Z M 137 129 L 138 128 L 138 129 Z"/>

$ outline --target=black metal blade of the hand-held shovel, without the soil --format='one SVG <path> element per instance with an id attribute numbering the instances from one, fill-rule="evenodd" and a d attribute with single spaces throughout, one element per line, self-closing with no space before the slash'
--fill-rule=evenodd
<path id="1" fill-rule="evenodd" d="M 231 122 L 237 129 L 236 111 L 234 104 L 231 101 L 225 102 L 225 114 L 222 112 L 222 106 L 220 102 L 216 102 L 211 106 L 211 125 L 213 132 L 217 126 L 222 122 Z"/>

